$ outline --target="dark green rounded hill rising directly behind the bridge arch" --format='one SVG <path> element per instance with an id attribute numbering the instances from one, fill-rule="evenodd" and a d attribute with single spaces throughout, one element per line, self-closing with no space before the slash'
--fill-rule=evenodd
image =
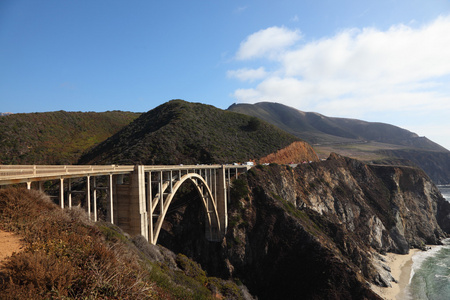
<path id="1" fill-rule="evenodd" d="M 245 162 L 267 156 L 299 140 L 254 117 L 210 105 L 172 100 L 142 114 L 83 155 L 79 163 Z M 311 149 L 309 145 L 307 147 Z M 312 149 L 311 152 L 314 153 Z M 317 160 L 315 153 L 314 156 Z"/>

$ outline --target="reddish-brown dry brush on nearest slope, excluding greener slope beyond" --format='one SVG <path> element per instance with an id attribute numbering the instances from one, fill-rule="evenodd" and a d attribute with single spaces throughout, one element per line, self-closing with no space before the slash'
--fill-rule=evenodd
<path id="1" fill-rule="evenodd" d="M 108 244 L 76 209 L 61 210 L 35 191 L 1 190 L 0 226 L 25 241 L 0 274 L 1 299 L 154 296 L 138 256 L 120 243 Z"/>

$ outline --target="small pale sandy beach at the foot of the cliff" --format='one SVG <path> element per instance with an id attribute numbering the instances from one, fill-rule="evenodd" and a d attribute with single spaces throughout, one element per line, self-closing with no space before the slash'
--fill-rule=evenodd
<path id="1" fill-rule="evenodd" d="M 401 300 L 406 298 L 406 287 L 409 284 L 412 268 L 412 257 L 419 249 L 410 249 L 409 254 L 388 253 L 384 255 L 386 264 L 391 268 L 392 277 L 397 283 L 391 282 L 392 287 L 372 286 L 372 289 L 386 300 Z"/>

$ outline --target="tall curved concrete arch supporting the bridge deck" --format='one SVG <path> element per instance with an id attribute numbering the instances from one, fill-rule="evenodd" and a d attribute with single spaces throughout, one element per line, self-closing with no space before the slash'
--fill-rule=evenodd
<path id="1" fill-rule="evenodd" d="M 205 229 L 206 238 L 208 240 L 218 240 L 221 227 L 220 227 L 220 219 L 219 219 L 219 213 L 217 209 L 217 202 L 216 199 L 214 199 L 213 194 L 211 192 L 210 187 L 208 186 L 208 183 L 206 180 L 197 173 L 187 173 L 181 178 L 178 178 L 175 182 L 175 184 L 170 185 L 169 183 L 165 183 L 162 186 L 162 189 L 159 193 L 155 195 L 153 200 L 151 201 L 151 213 L 150 213 L 150 242 L 152 244 L 156 244 L 158 240 L 159 233 L 161 231 L 162 224 L 164 222 L 164 219 L 166 217 L 167 211 L 169 210 L 170 204 L 172 203 L 172 200 L 174 199 L 178 189 L 186 182 L 190 181 L 195 186 L 195 189 L 197 190 L 202 203 L 203 207 L 206 212 L 206 220 L 207 220 L 207 228 Z M 169 186 L 171 187 L 171 191 L 169 193 L 166 193 L 166 191 L 169 189 Z M 164 196 L 166 194 L 166 196 Z M 153 221 L 154 212 L 157 209 L 157 204 L 159 201 L 162 201 L 160 204 L 159 214 L 157 214 L 157 220 L 156 222 Z M 153 205 L 155 203 L 156 205 Z"/>

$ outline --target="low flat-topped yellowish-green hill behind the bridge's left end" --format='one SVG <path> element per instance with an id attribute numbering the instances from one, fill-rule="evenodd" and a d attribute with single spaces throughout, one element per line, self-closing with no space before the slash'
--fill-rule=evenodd
<path id="1" fill-rule="evenodd" d="M 122 111 L 11 114 L 0 118 L 0 164 L 72 164 L 139 114 Z"/>

